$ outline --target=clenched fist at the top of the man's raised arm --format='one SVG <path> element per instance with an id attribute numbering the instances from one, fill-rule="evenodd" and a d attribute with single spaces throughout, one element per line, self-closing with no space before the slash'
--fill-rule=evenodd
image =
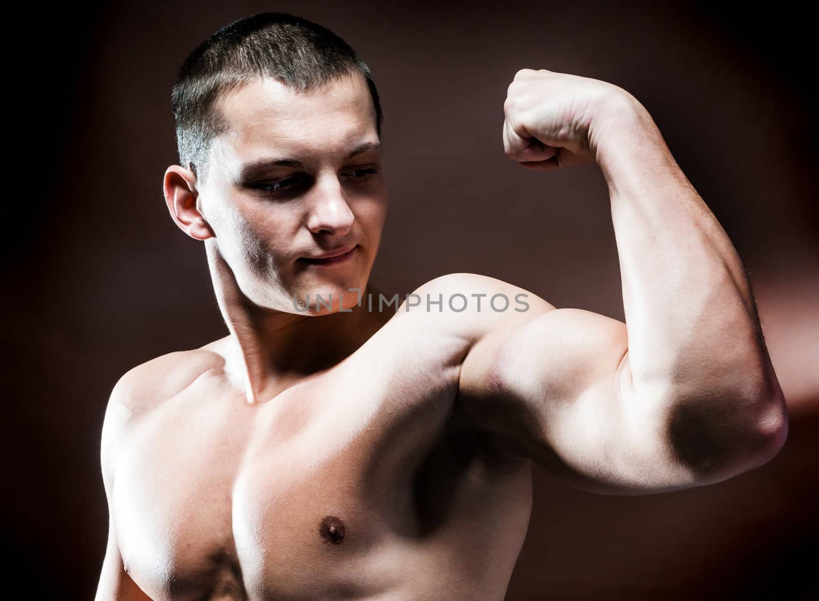
<path id="1" fill-rule="evenodd" d="M 600 138 L 630 111 L 636 99 L 600 79 L 522 69 L 504 102 L 506 156 L 544 171 L 597 158 Z"/>

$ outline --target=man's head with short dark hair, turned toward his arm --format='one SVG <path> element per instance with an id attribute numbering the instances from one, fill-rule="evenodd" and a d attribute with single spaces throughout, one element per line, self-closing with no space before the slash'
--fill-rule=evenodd
<path id="1" fill-rule="evenodd" d="M 165 199 L 206 242 L 211 269 L 270 310 L 355 305 L 387 190 L 378 92 L 352 48 L 283 13 L 238 20 L 188 56 L 173 108 L 180 164 L 165 172 Z M 351 247 L 346 260 L 311 260 Z M 333 307 L 317 308 L 316 294 Z"/>

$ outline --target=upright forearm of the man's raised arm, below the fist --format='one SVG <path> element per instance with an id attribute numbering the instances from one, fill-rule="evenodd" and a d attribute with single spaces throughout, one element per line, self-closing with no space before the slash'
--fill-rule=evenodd
<path id="1" fill-rule="evenodd" d="M 784 399 L 744 265 L 648 112 L 627 103 L 598 132 L 596 159 L 611 197 L 635 390 L 687 403 L 695 423 L 730 423 L 726 436 L 746 426 L 780 436 Z"/>

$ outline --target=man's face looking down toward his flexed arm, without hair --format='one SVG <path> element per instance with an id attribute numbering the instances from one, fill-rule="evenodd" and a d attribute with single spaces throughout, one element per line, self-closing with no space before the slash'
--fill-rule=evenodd
<path id="1" fill-rule="evenodd" d="M 355 306 L 349 289 L 364 289 L 387 214 L 364 78 L 301 94 L 258 79 L 226 96 L 220 110 L 229 128 L 214 141 L 198 187 L 215 234 L 206 243 L 256 305 L 301 314 Z M 317 294 L 324 300 L 318 309 Z"/>

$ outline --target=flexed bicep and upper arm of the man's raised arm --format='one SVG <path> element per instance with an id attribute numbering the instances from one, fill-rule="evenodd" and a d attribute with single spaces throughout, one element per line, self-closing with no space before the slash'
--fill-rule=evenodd
<path id="1" fill-rule="evenodd" d="M 631 386 L 617 319 L 555 309 L 491 332 L 464 359 L 462 382 L 470 427 L 574 486 L 628 495 L 698 483 L 672 447 L 667 405 Z"/>

